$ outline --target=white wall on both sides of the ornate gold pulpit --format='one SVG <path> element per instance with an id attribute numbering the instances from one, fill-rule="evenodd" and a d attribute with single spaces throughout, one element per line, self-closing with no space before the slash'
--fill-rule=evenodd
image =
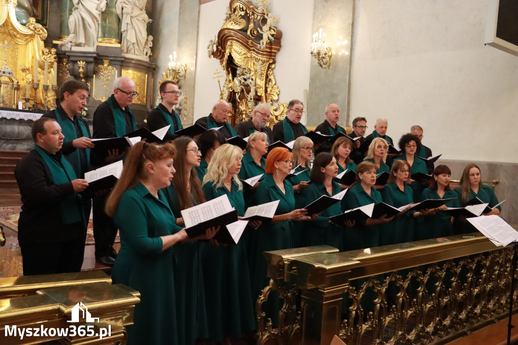
<path id="1" fill-rule="evenodd" d="M 200 6 L 198 28 L 198 52 L 196 57 L 196 90 L 194 120 L 207 116 L 219 99 L 218 82 L 213 73 L 221 66 L 217 59 L 209 59 L 207 45 L 214 39 L 225 18 L 228 0 L 215 0 Z M 274 70 L 277 85 L 281 90 L 279 102 L 298 98 L 304 102 L 304 90 L 309 88 L 309 71 L 313 0 L 271 0 L 268 11 L 279 19 L 274 25 L 282 31 L 282 48 L 277 53 Z M 221 78 L 223 86 L 224 78 Z M 306 119 L 303 117 L 303 123 Z"/>

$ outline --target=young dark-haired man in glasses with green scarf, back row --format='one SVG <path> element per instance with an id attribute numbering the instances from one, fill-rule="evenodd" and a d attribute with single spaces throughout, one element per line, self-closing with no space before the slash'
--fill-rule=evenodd
<path id="1" fill-rule="evenodd" d="M 178 104 L 180 97 L 183 95 L 178 89 L 178 84 L 172 80 L 165 80 L 160 84 L 160 98 L 162 102 L 148 113 L 147 122 L 151 132 L 160 130 L 167 125 L 169 132 L 164 136 L 164 140 L 174 140 L 178 135 L 176 131 L 183 129 L 178 114 L 172 107 Z"/>

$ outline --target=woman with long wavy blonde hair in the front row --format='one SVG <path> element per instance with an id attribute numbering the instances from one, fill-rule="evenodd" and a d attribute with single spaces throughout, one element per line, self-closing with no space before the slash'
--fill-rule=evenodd
<path id="1" fill-rule="evenodd" d="M 238 174 L 242 151 L 224 144 L 214 151 L 203 179 L 205 198 L 212 200 L 224 194 L 244 215 L 244 198 Z M 260 222 L 250 222 L 258 227 Z M 253 224 L 252 224 L 253 223 Z M 202 267 L 209 341 L 228 342 L 228 338 L 241 338 L 243 333 L 255 329 L 254 310 L 247 256 L 244 242 L 237 245 L 202 246 Z"/>

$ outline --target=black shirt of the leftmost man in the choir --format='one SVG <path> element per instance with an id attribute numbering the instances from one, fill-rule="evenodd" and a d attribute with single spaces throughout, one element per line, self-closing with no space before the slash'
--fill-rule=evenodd
<path id="1" fill-rule="evenodd" d="M 59 151 L 50 156 L 61 165 L 61 155 Z M 23 203 L 18 220 L 21 246 L 23 243 L 52 243 L 79 238 L 84 231 L 84 223 L 63 225 L 59 209 L 59 202 L 74 194 L 72 182 L 54 184 L 47 164 L 35 150 L 18 162 L 15 177 Z"/>

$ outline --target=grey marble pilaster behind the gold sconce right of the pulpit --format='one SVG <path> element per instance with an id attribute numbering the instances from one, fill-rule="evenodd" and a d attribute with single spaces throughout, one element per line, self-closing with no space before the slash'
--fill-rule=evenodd
<path id="1" fill-rule="evenodd" d="M 354 0 L 314 0 L 313 33 L 322 28 L 327 45 L 332 49 L 329 69 L 318 65 L 311 57 L 307 125 L 319 125 L 325 119 L 325 106 L 336 103 L 340 107 L 341 126 L 349 120 L 349 72 L 351 66 L 351 38 Z"/>

